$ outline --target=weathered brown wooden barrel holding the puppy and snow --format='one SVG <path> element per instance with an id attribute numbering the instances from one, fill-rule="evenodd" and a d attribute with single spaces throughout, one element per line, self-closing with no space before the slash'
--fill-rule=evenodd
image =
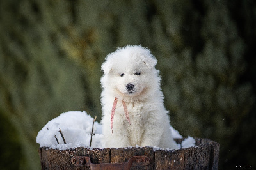
<path id="1" fill-rule="evenodd" d="M 175 139 L 181 143 L 184 139 Z M 196 146 L 156 150 L 127 148 L 40 148 L 42 169 L 218 169 L 219 144 L 195 138 Z"/>

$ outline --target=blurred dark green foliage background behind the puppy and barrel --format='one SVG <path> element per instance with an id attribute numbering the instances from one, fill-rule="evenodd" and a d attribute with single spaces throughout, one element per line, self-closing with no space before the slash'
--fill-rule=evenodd
<path id="1" fill-rule="evenodd" d="M 0 169 L 40 169 L 36 135 L 71 110 L 100 120 L 100 65 L 141 44 L 171 123 L 220 143 L 220 169 L 255 165 L 254 0 L 0 1 Z"/>

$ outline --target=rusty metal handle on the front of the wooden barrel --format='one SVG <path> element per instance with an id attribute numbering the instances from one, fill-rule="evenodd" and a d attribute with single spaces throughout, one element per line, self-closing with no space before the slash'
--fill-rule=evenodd
<path id="1" fill-rule="evenodd" d="M 132 166 L 148 166 L 150 164 L 150 158 L 142 156 L 134 156 L 129 158 L 127 162 L 124 163 L 102 163 L 102 164 L 93 164 L 90 160 L 90 157 L 86 156 L 74 156 L 71 159 L 74 166 L 88 166 L 90 169 L 130 169 Z"/>

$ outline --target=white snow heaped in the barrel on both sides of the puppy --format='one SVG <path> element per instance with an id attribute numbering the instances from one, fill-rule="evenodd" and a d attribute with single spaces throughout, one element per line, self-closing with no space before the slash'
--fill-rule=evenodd
<path id="1" fill-rule="evenodd" d="M 60 114 L 60 116 L 49 121 L 38 132 L 36 142 L 40 147 L 49 147 L 52 149 L 67 150 L 69 148 L 91 148 L 90 139 L 92 133 L 93 118 L 85 111 L 69 111 Z M 66 144 L 64 144 L 60 131 L 62 132 Z M 182 138 L 172 126 L 170 126 L 174 138 Z M 54 135 L 56 135 L 57 143 Z M 179 148 L 188 148 L 195 146 L 195 139 L 188 137 L 182 144 L 178 144 Z M 136 147 L 139 147 L 136 145 Z M 95 121 L 92 137 L 92 148 L 104 148 L 104 138 L 102 134 L 102 125 Z M 153 147 L 154 151 L 161 150 L 161 148 Z"/>

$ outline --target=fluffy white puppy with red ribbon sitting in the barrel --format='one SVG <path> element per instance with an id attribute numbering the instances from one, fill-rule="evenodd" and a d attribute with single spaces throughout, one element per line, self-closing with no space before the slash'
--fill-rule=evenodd
<path id="1" fill-rule="evenodd" d="M 150 50 L 138 45 L 119 48 L 106 57 L 101 79 L 106 147 L 177 148 L 156 63 Z"/>

